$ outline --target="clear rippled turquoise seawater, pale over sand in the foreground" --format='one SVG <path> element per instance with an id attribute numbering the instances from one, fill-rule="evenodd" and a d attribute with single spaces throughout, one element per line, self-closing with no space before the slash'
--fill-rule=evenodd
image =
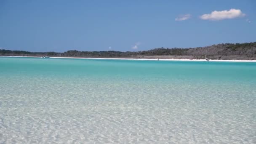
<path id="1" fill-rule="evenodd" d="M 256 63 L 0 57 L 0 143 L 256 143 Z"/>

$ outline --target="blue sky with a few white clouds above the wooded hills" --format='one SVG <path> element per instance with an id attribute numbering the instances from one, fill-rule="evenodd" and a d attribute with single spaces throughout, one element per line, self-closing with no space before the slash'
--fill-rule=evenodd
<path id="1" fill-rule="evenodd" d="M 255 34 L 256 0 L 0 0 L 0 49 L 142 51 Z"/>

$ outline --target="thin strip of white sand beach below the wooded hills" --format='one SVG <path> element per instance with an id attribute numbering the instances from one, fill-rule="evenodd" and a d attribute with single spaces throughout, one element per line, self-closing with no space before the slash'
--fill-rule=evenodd
<path id="1" fill-rule="evenodd" d="M 0 57 L 24 57 L 24 58 L 42 58 L 41 56 L 0 56 Z M 113 60 L 143 60 L 143 61 L 206 61 L 205 59 L 128 59 L 128 58 L 80 58 L 80 57 L 49 57 L 53 59 L 113 59 Z M 48 59 L 48 58 L 45 58 Z M 209 59 L 215 62 L 256 62 L 256 60 L 221 60 Z"/>

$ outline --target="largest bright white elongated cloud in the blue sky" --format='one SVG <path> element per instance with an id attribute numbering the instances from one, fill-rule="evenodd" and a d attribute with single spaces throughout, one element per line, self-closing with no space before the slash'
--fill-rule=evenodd
<path id="1" fill-rule="evenodd" d="M 208 14 L 203 14 L 202 16 L 200 16 L 200 19 L 218 21 L 223 19 L 234 19 L 242 16 L 245 16 L 245 14 L 242 13 L 241 10 L 232 8 L 229 11 L 213 11 Z"/>

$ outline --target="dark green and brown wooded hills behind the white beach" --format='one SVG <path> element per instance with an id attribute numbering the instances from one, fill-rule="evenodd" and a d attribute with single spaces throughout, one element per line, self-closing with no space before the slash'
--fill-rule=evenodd
<path id="1" fill-rule="evenodd" d="M 29 51 L 11 51 L 0 49 L 1 56 L 55 56 L 55 57 L 101 57 L 101 58 L 143 58 L 150 56 L 190 56 L 191 59 L 202 59 L 205 56 L 212 59 L 221 59 L 226 57 L 236 59 L 256 59 L 256 42 L 254 43 L 225 43 L 198 48 L 155 48 L 148 51 L 66 51 L 57 52 L 29 52 Z M 161 57 L 160 57 L 161 58 Z M 225 58 L 225 59 L 226 59 Z"/>

